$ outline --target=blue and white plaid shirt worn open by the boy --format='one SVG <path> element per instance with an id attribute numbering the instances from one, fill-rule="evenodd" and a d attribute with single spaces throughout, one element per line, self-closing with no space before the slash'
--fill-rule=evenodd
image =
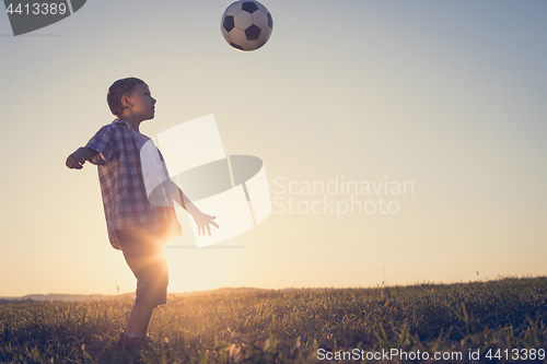
<path id="1" fill-rule="evenodd" d="M 149 201 L 129 122 L 115 119 L 102 127 L 85 146 L 98 152 L 90 162 L 97 165 L 108 238 L 115 249 L 120 250 L 115 230 L 158 231 L 165 238 L 182 235 L 174 207 Z M 159 150 L 158 153 L 163 161 Z M 168 176 L 166 171 L 165 174 Z M 171 196 L 168 199 L 172 201 Z"/>

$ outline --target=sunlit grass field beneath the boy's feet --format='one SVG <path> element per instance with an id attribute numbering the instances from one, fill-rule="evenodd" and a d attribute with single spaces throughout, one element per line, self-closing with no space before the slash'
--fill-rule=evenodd
<path id="1" fill-rule="evenodd" d="M 112 344 L 131 304 L 1 305 L 0 362 L 547 362 L 547 278 L 176 297 L 154 313 L 154 345 L 125 353 Z"/>

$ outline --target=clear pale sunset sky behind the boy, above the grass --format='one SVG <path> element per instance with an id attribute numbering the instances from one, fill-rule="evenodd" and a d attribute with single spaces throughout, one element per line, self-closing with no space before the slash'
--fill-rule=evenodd
<path id="1" fill-rule="evenodd" d="M 265 0 L 249 52 L 221 35 L 230 3 L 94 0 L 20 36 L 0 13 L 0 296 L 135 290 L 96 166 L 65 166 L 126 77 L 158 99 L 141 132 L 213 114 L 268 178 L 269 218 L 210 248 L 177 210 L 171 292 L 547 274 L 545 1 Z"/>

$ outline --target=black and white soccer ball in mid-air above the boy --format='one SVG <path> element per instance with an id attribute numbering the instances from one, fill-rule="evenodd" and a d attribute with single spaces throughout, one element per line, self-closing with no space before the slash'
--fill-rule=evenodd
<path id="1" fill-rule="evenodd" d="M 255 50 L 268 42 L 274 21 L 258 1 L 236 1 L 226 8 L 220 24 L 228 44 L 240 50 Z"/>

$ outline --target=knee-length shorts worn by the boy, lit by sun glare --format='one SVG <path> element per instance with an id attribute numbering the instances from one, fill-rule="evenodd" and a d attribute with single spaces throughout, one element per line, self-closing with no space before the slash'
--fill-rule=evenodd
<path id="1" fill-rule="evenodd" d="M 158 307 L 167 303 L 168 268 L 163 254 L 166 240 L 154 233 L 116 230 L 124 258 L 137 278 L 135 303 Z"/>

